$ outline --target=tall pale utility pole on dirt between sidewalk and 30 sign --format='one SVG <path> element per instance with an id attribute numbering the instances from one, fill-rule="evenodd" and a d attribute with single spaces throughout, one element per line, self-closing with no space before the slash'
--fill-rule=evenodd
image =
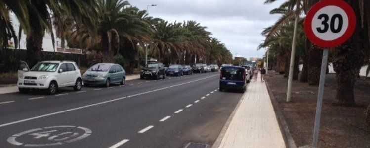
<path id="1" fill-rule="evenodd" d="M 291 57 L 290 57 L 290 68 L 289 68 L 289 80 L 288 80 L 288 91 L 287 91 L 287 102 L 291 101 L 291 87 L 293 85 L 293 74 L 294 74 L 294 60 L 295 60 L 295 49 L 297 42 L 297 30 L 298 30 L 298 20 L 299 20 L 299 7 L 300 0 L 297 0 L 296 3 L 296 12 L 295 12 L 295 25 L 294 25 L 294 35 L 293 35 L 293 46 L 291 47 Z"/>

